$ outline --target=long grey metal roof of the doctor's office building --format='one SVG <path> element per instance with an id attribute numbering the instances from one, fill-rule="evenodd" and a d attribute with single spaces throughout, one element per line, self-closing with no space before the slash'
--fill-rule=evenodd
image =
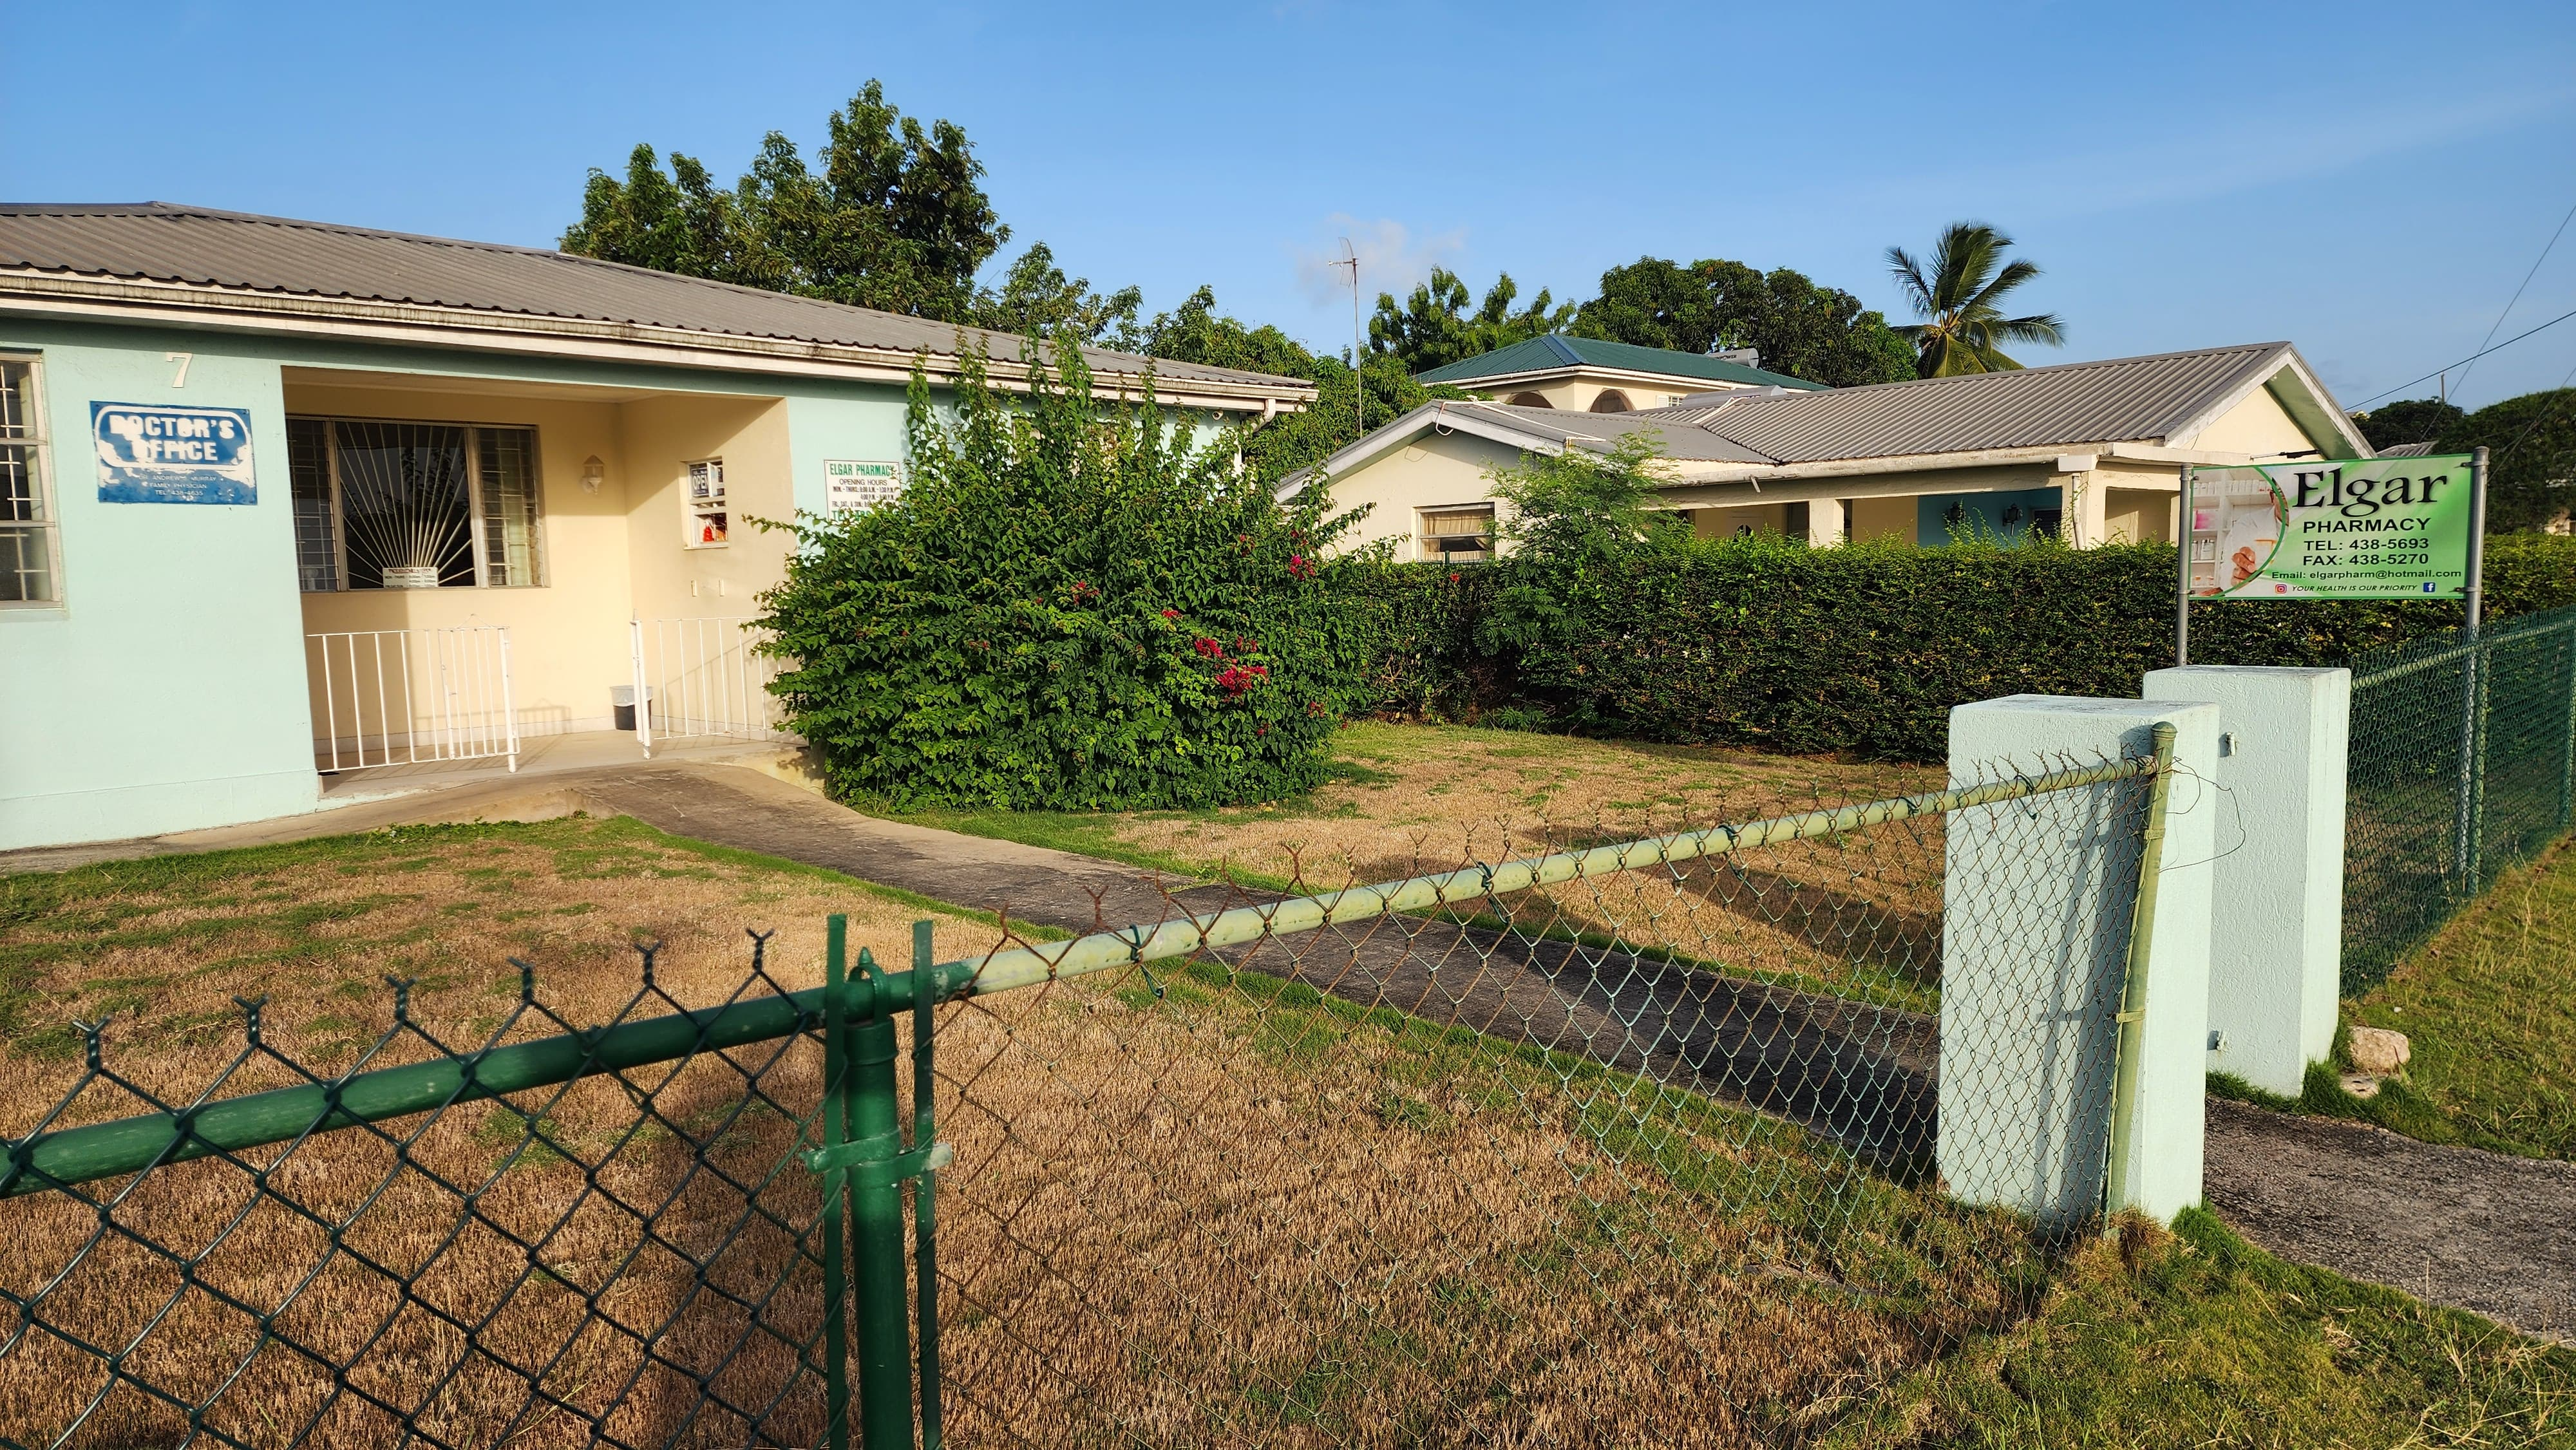
<path id="1" fill-rule="evenodd" d="M 415 237 L 368 227 L 139 203 L 0 203 L 0 270 L 147 278 L 227 291 L 564 317 L 775 337 L 889 353 L 958 350 L 958 327 L 809 296 L 716 283 L 536 247 Z M 1020 361 L 1020 337 L 963 330 L 997 361 Z M 1141 373 L 1133 353 L 1082 350 L 1092 371 Z M 1231 384 L 1301 397 L 1303 379 L 1151 361 L 1172 381 Z"/>

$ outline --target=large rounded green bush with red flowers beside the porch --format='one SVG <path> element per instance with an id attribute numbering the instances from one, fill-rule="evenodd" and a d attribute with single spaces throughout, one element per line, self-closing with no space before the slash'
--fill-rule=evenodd
<path id="1" fill-rule="evenodd" d="M 907 433 L 902 500 L 799 520 L 762 595 L 835 796 L 1159 809 L 1324 780 L 1355 685 L 1316 556 L 1347 520 L 1280 505 L 1151 397 L 1095 399 L 1069 350 L 1025 397 L 971 361 L 933 407 L 914 373 Z"/>

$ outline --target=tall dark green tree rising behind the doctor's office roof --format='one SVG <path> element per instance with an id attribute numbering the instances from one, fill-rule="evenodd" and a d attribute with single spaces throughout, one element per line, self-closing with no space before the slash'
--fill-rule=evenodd
<path id="1" fill-rule="evenodd" d="M 822 170 L 809 170 L 796 142 L 770 131 L 726 196 L 701 162 L 672 155 L 672 175 L 662 175 L 652 147 L 636 147 L 623 183 L 590 173 L 582 219 L 564 229 L 562 247 L 639 268 L 974 322 L 974 273 L 1002 250 L 1010 227 L 979 185 L 984 162 L 974 157 L 966 131 L 951 121 L 922 129 L 871 80 L 832 113 L 817 160 Z"/>

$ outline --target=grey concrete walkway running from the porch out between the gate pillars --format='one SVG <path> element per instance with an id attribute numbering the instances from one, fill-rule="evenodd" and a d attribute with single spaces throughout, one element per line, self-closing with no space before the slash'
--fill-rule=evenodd
<path id="1" fill-rule="evenodd" d="M 755 760 L 755 765 L 760 765 Z M 0 855 L 0 871 L 222 850 L 404 822 L 629 814 L 1072 932 L 1270 901 L 1061 850 L 860 816 L 760 770 L 629 762 L 482 780 L 224 832 Z M 1927 1159 L 1935 1022 L 1633 953 L 1419 917 L 1226 953 L 1239 966 L 1445 1025 L 1651 1071 L 1752 1102 L 1906 1172 Z M 2375 1128 L 2210 1102 L 2208 1198 L 2257 1244 L 2342 1275 L 2576 1339 L 2576 1164 L 2437 1149 Z"/>

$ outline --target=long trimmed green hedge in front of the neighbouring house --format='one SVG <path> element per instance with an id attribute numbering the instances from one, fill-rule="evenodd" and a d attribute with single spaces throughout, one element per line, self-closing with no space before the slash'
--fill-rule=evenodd
<path id="1" fill-rule="evenodd" d="M 2174 657 L 2172 546 L 1994 549 L 1726 538 L 1546 577 L 1522 561 L 1334 567 L 1347 667 L 1378 713 L 1579 734 L 1940 760 L 1950 706 L 2133 698 Z M 1538 574 L 1538 577 L 1533 577 Z M 1497 590 L 1551 590 L 1535 646 L 1479 628 Z M 2576 605 L 2576 538 L 2496 536 L 2488 618 Z M 2460 623 L 2447 603 L 2202 603 L 2200 664 L 2342 664 Z"/>

